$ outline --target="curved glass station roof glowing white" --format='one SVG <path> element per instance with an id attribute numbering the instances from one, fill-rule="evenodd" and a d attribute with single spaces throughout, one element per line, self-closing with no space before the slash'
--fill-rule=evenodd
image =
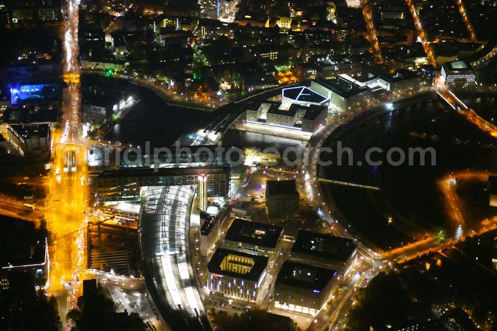
<path id="1" fill-rule="evenodd" d="M 189 248 L 195 186 L 148 186 L 143 192 L 140 244 L 154 302 L 172 330 L 210 330 Z"/>

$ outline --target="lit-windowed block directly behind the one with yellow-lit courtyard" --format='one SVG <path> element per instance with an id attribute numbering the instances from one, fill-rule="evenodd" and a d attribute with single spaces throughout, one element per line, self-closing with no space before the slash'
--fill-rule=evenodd
<path id="1" fill-rule="evenodd" d="M 224 248 L 266 256 L 272 269 L 281 251 L 282 236 L 282 227 L 235 219 L 226 233 Z"/>

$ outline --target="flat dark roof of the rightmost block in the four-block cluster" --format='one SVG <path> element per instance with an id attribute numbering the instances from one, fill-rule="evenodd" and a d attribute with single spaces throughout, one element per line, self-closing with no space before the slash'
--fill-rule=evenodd
<path id="1" fill-rule="evenodd" d="M 291 253 L 345 262 L 350 258 L 355 248 L 357 246 L 351 239 L 300 230 Z"/>

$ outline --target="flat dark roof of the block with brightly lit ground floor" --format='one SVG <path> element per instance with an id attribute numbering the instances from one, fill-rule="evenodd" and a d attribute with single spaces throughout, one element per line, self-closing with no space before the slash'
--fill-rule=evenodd
<path id="1" fill-rule="evenodd" d="M 319 293 L 325 289 L 336 273 L 336 270 L 285 261 L 278 273 L 275 285 L 287 285 Z"/>

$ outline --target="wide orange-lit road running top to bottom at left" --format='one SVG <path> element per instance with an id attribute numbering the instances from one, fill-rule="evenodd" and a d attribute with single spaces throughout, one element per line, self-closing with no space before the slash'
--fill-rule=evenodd
<path id="1" fill-rule="evenodd" d="M 61 132 L 54 133 L 54 161 L 49 176 L 50 208 L 50 280 L 48 292 L 59 301 L 59 314 L 65 328 L 67 312 L 82 294 L 84 261 L 84 212 L 87 204 L 87 168 L 84 147 L 78 128 L 80 85 L 78 64 L 79 1 L 69 0 L 64 33 L 63 78 L 68 87 L 63 91 Z"/>

